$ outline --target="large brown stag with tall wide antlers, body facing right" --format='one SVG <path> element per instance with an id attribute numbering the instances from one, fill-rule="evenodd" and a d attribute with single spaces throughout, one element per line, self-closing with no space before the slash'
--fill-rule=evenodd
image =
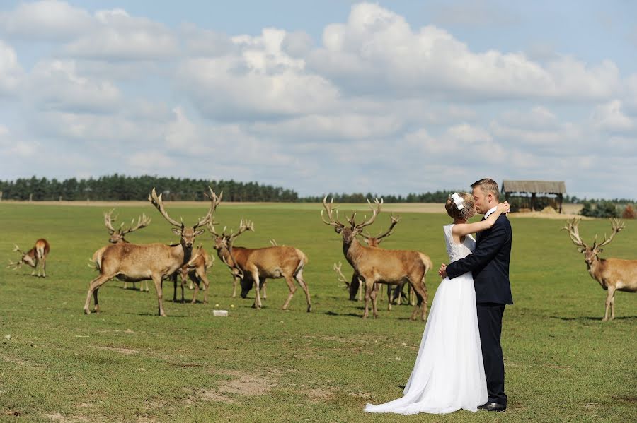
<path id="1" fill-rule="evenodd" d="M 94 311 L 99 312 L 98 290 L 108 280 L 117 278 L 127 282 L 139 282 L 151 279 L 157 293 L 159 316 L 166 317 L 166 311 L 163 309 L 163 279 L 173 275 L 190 261 L 195 237 L 205 232 L 205 230 L 197 228 L 204 227 L 210 222 L 214 210 L 217 209 L 223 196 L 221 193 L 217 197 L 210 187 L 208 189 L 210 190 L 210 195 L 208 195 L 210 208 L 207 214 L 200 218 L 194 226 L 186 226 L 183 221 L 178 222 L 171 218 L 163 207 L 161 194 L 157 196 L 155 189 L 153 189 L 148 199 L 159 210 L 163 218 L 173 225 L 173 233 L 180 236 L 180 243 L 171 246 L 160 243 L 130 244 L 124 242 L 108 246 L 102 254 L 100 274 L 91 280 L 88 286 L 84 313 L 91 314 L 89 309 L 91 296 L 93 296 Z M 207 302 L 207 297 L 208 290 L 205 292 L 204 302 Z"/>

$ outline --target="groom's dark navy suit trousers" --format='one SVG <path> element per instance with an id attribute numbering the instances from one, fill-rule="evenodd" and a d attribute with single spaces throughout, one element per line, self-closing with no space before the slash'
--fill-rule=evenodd
<path id="1" fill-rule="evenodd" d="M 500 347 L 505 304 L 478 303 L 477 306 L 489 403 L 507 405 L 507 395 L 504 393 L 504 359 Z"/>

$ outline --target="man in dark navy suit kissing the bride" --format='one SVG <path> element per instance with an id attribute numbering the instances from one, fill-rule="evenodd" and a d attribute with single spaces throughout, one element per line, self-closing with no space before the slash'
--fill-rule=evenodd
<path id="1" fill-rule="evenodd" d="M 498 184 L 493 179 L 481 179 L 471 185 L 476 210 L 484 219 L 495 211 L 500 202 Z M 502 316 L 505 304 L 513 304 L 509 284 L 509 259 L 512 231 L 506 215 L 500 215 L 493 227 L 476 235 L 476 251 L 449 266 L 438 270 L 442 278 L 456 278 L 467 272 L 474 275 L 478 328 L 482 345 L 482 359 L 486 374 L 488 401 L 478 408 L 504 411 L 507 395 L 504 392 L 504 360 L 500 347 Z"/>

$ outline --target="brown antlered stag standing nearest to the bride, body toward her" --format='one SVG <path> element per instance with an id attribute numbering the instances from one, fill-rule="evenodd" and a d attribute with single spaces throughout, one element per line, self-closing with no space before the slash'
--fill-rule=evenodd
<path id="1" fill-rule="evenodd" d="M 418 302 L 415 304 L 411 320 L 415 320 L 420 309 L 423 321 L 427 318 L 427 287 L 425 285 L 425 275 L 432 268 L 431 259 L 420 251 L 400 251 L 386 250 L 379 247 L 363 246 L 356 238 L 364 227 L 372 225 L 381 210 L 382 201 L 374 200 L 376 208 L 367 200 L 372 216 L 362 222 L 356 223 L 356 213 L 352 213 L 351 218 L 347 218 L 350 226 L 346 226 L 338 220 L 338 212 L 334 216 L 334 199 L 327 203 L 327 196 L 323 198 L 323 210 L 321 210 L 321 220 L 326 225 L 334 227 L 336 233 L 343 237 L 343 255 L 350 263 L 355 272 L 359 275 L 360 283 L 365 284 L 365 312 L 362 318 L 369 316 L 369 300 L 372 300 L 372 312 L 374 318 L 378 318 L 377 291 L 374 291 L 374 283 L 384 283 L 386 285 L 398 285 L 408 281 L 412 289 L 416 292 Z M 328 220 L 324 218 L 323 212 Z"/>

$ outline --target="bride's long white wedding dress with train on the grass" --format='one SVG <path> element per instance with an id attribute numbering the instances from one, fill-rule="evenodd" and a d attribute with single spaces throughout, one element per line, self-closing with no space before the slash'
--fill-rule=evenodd
<path id="1" fill-rule="evenodd" d="M 476 248 L 471 236 L 456 244 L 452 226 L 444 226 L 450 261 L 469 255 Z M 476 412 L 488 394 L 478 316 L 476 291 L 471 273 L 444 278 L 436 291 L 423 340 L 403 398 L 381 405 L 367 404 L 367 412 L 419 412 L 442 414 L 463 408 Z"/>

